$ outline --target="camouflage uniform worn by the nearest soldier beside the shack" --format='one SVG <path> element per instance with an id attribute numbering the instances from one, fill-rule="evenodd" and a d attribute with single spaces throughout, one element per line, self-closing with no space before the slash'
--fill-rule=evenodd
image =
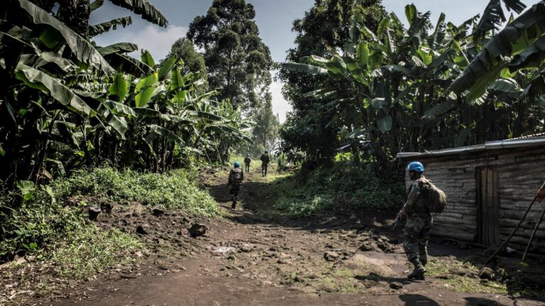
<path id="1" fill-rule="evenodd" d="M 403 232 L 403 247 L 407 259 L 414 266 L 419 263 L 425 266 L 428 262 L 428 240 L 431 226 L 434 224 L 434 218 L 426 209 L 426 195 L 421 194 L 425 182 L 424 176 L 413 181 L 407 190 L 407 202 L 402 210 L 402 213 L 407 215 L 407 224 Z"/>

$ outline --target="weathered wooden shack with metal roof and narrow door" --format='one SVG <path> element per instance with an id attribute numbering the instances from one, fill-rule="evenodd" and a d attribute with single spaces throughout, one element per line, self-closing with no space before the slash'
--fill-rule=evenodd
<path id="1" fill-rule="evenodd" d="M 489 246 L 507 238 L 545 180 L 545 135 L 400 153 L 397 158 L 405 165 L 422 162 L 426 178 L 447 194 L 448 204 L 436 214 L 432 234 Z M 527 246 L 544 208 L 545 202 L 534 204 L 512 247 Z M 545 221 L 532 245 L 532 253 L 545 254 Z"/>

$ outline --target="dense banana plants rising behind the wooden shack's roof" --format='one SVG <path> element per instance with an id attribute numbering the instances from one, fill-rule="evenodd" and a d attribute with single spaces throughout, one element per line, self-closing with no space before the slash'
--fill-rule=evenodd
<path id="1" fill-rule="evenodd" d="M 524 9 L 519 1 L 505 4 Z M 393 13 L 376 29 L 357 14 L 342 52 L 284 64 L 321 77 L 301 93 L 312 101 L 304 112 L 294 103 L 282 129 L 285 150 L 331 159 L 346 145 L 390 168 L 397 152 L 544 131 L 544 1 L 499 33 L 493 30 L 505 19 L 499 0 L 459 26 L 441 14 L 432 28 L 429 12 L 414 5 L 405 11 L 408 29 Z M 316 141 L 317 135 L 329 138 Z"/>

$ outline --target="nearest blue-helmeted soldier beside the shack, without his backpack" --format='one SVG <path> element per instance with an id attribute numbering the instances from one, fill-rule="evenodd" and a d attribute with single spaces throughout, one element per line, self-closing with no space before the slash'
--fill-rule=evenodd
<path id="1" fill-rule="evenodd" d="M 412 162 L 408 170 L 413 182 L 407 190 L 407 202 L 397 217 L 399 220 L 407 217 L 403 232 L 403 247 L 407 259 L 414 265 L 414 270 L 408 278 L 424 279 L 425 266 L 428 262 L 428 240 L 434 219 L 426 208 L 427 196 L 422 194 L 425 192 L 422 187 L 427 181 L 424 177 L 424 165 L 420 162 Z"/>

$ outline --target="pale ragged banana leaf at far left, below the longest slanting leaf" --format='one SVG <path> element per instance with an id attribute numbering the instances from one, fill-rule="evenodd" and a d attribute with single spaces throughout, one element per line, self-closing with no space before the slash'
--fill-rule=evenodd
<path id="1" fill-rule="evenodd" d="M 95 112 L 69 88 L 60 83 L 58 79 L 51 77 L 45 72 L 29 67 L 26 64 L 18 63 L 15 69 L 17 79 L 23 81 L 27 86 L 40 89 L 49 94 L 63 106 L 67 106 L 86 115 L 95 115 Z"/>

